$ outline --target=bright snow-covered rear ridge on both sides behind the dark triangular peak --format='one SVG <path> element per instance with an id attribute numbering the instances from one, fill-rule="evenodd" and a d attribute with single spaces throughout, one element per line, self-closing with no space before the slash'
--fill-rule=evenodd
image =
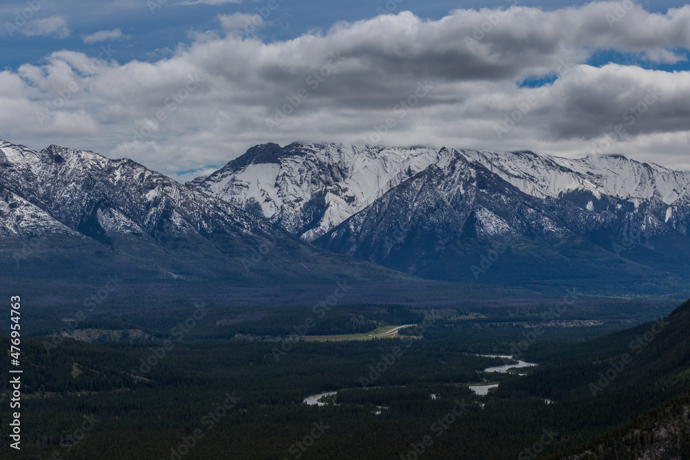
<path id="1" fill-rule="evenodd" d="M 684 224 L 676 225 L 675 216 L 685 214 L 681 208 L 690 205 L 687 172 L 621 155 L 564 159 L 534 152 L 450 152 L 335 143 L 292 143 L 284 148 L 263 144 L 188 185 L 314 241 L 391 188 L 432 165 L 444 170 L 453 155 L 460 154 L 532 197 L 569 199 L 587 212 L 631 204 L 635 211 L 642 206 L 649 213 L 651 206 L 655 219 L 686 231 Z"/>

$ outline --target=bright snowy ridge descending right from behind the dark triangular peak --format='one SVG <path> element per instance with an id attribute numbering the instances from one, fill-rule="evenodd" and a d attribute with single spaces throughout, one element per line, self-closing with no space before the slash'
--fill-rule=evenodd
<path id="1" fill-rule="evenodd" d="M 688 235 L 688 172 L 620 154 L 564 159 L 533 152 L 463 153 L 533 197 L 566 199 L 588 212 L 613 212 L 626 221 L 637 221 L 638 228 L 626 230 L 647 237 L 669 230 Z"/>

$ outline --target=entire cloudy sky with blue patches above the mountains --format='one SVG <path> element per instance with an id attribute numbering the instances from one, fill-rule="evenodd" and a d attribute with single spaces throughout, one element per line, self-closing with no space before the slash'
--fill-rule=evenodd
<path id="1" fill-rule="evenodd" d="M 690 170 L 671 1 L 0 4 L 0 139 L 179 181 L 258 143 L 624 154 Z"/>

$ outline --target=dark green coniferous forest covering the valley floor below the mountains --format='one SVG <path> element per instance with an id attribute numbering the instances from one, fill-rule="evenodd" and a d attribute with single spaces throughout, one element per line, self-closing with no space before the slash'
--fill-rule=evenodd
<path id="1" fill-rule="evenodd" d="M 353 299 L 371 294 L 359 288 Z M 654 427 L 687 419 L 690 303 L 435 295 L 137 309 L 131 290 L 81 321 L 83 306 L 25 301 L 18 458 L 635 458 Z M 389 325 L 409 327 L 351 338 Z M 538 366 L 484 372 L 515 359 Z M 500 385 L 469 388 L 482 383 Z"/>

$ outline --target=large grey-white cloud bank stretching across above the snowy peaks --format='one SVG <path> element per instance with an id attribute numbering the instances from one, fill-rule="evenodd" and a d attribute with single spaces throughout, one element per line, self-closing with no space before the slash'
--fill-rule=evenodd
<path id="1" fill-rule="evenodd" d="M 226 30 L 244 19 L 219 17 Z M 596 2 L 437 21 L 400 12 L 270 43 L 199 34 L 150 63 L 93 66 L 61 51 L 0 72 L 0 105 L 12 107 L 0 137 L 130 157 L 172 177 L 296 140 L 620 152 L 690 170 L 690 72 L 587 65 L 599 51 L 670 62 L 688 48 L 690 6 Z M 546 75 L 555 81 L 520 88 Z"/>

